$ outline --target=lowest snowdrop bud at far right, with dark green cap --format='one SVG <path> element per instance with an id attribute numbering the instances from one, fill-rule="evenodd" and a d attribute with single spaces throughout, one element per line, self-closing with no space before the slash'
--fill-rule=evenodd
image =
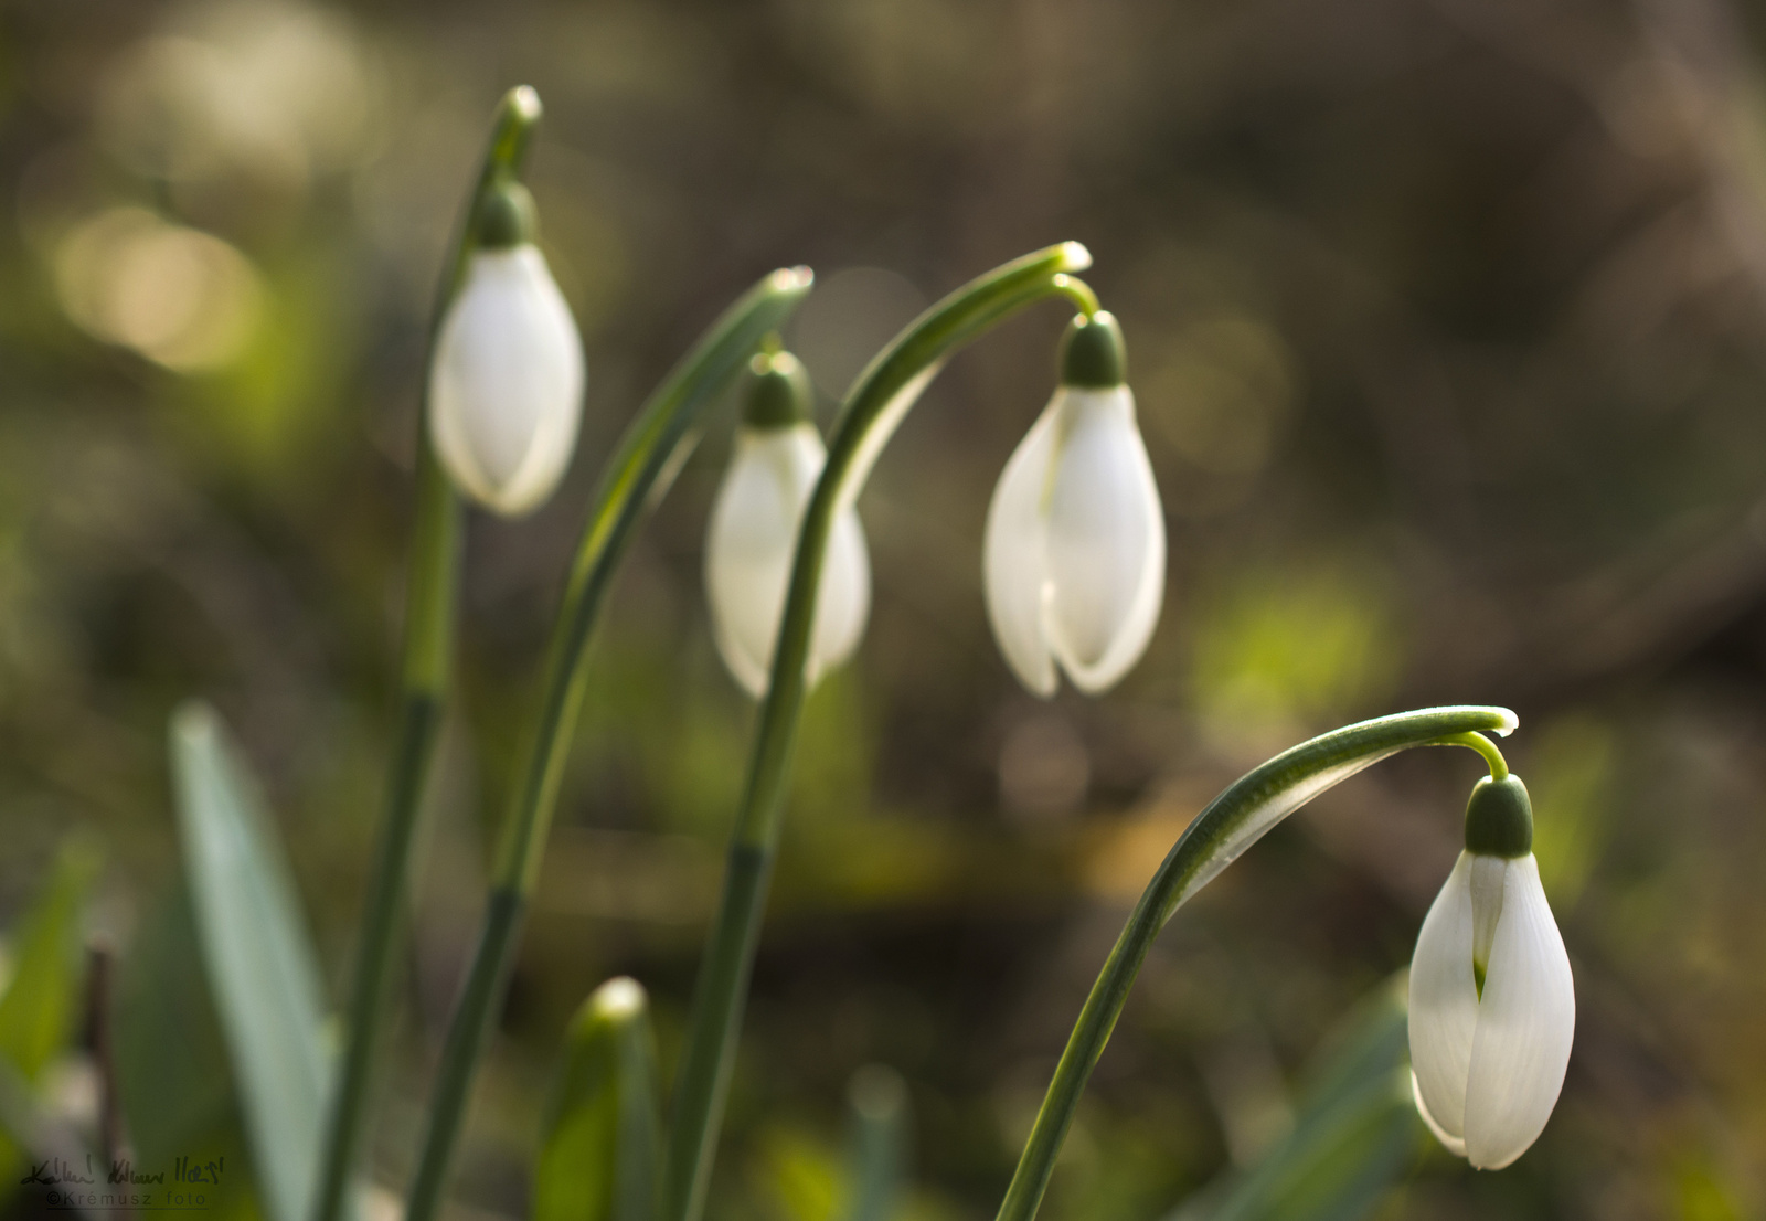
<path id="1" fill-rule="evenodd" d="M 1501 1170 L 1545 1129 L 1574 1035 L 1575 982 L 1533 859 L 1526 785 L 1485 777 L 1411 959 L 1416 1110 L 1450 1150 Z"/>

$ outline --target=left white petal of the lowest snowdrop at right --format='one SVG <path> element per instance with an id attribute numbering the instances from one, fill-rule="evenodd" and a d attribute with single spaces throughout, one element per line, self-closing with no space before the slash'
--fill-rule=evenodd
<path id="1" fill-rule="evenodd" d="M 1466 1133 L 1466 1074 L 1478 1030 L 1478 986 L 1471 977 L 1471 866 L 1460 852 L 1436 896 L 1411 956 L 1411 1071 L 1430 1126 Z M 1443 1141 L 1446 1143 L 1446 1141 Z"/>

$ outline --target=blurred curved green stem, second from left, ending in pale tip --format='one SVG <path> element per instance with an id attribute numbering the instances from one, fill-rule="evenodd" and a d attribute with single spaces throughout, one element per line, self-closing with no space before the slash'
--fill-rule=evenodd
<path id="1" fill-rule="evenodd" d="M 650 396 L 602 470 L 570 567 L 563 608 L 553 627 L 546 691 L 528 739 L 528 762 L 503 823 L 491 903 L 466 984 L 449 1020 L 429 1103 L 429 1131 L 411 1184 L 406 1221 L 433 1221 L 447 1186 L 466 1096 L 507 991 L 521 919 L 539 878 L 546 832 L 558 806 L 558 783 L 588 677 L 583 664 L 588 641 L 620 558 L 645 511 L 660 500 L 691 452 L 706 410 L 759 348 L 761 339 L 789 318 L 809 284 L 811 274 L 804 267 L 777 270 L 726 309 Z"/>

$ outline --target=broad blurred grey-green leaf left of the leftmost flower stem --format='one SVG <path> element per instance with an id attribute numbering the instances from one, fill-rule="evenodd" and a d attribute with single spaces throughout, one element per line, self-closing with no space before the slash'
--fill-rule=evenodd
<path id="1" fill-rule="evenodd" d="M 201 703 L 171 719 L 198 942 L 270 1221 L 307 1221 L 330 1083 L 318 959 L 258 788 Z"/>

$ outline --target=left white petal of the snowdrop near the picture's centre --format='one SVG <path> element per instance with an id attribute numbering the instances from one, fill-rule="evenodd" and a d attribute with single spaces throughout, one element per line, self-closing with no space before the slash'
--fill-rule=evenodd
<path id="1" fill-rule="evenodd" d="M 1054 656 L 1044 636 L 1044 599 L 1047 597 L 1047 521 L 1044 504 L 1054 465 L 1056 424 L 1063 392 L 1056 391 L 1049 406 L 1012 451 L 987 505 L 987 532 L 982 542 L 982 588 L 987 595 L 987 620 L 992 624 L 1000 652 L 1019 682 L 1042 698 L 1054 694 L 1058 677 Z"/>

